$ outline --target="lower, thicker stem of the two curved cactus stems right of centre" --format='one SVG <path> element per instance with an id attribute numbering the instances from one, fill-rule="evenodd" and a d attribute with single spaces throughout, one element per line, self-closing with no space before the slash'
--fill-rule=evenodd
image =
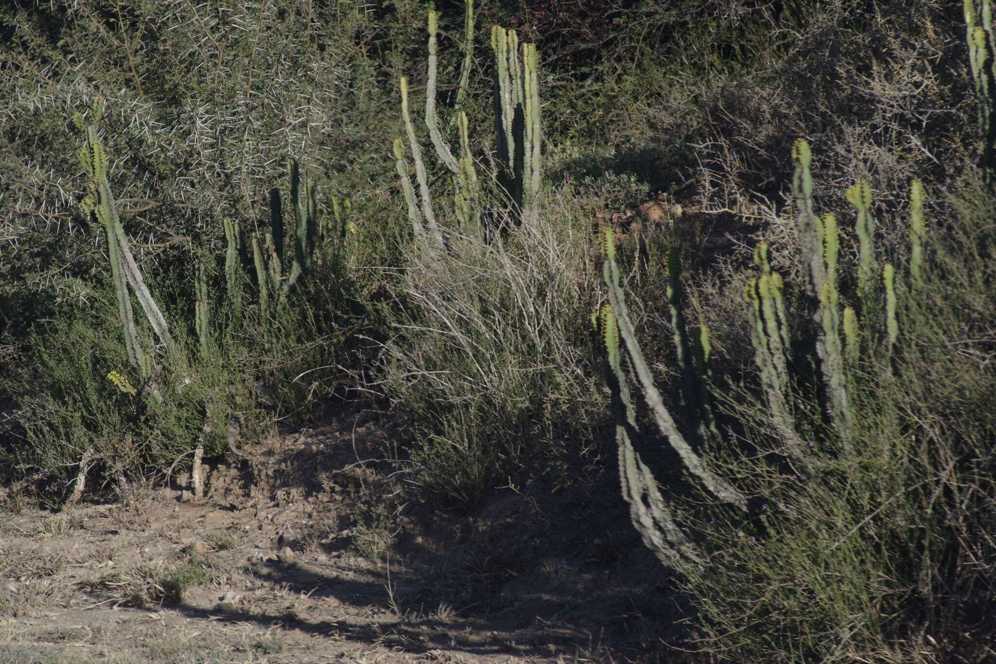
<path id="1" fill-rule="evenodd" d="M 619 327 L 609 305 L 602 308 L 599 327 L 608 353 L 609 371 L 606 377 L 613 395 L 622 498 L 629 505 L 629 518 L 643 544 L 665 565 L 700 564 L 701 554 L 678 528 L 652 472 L 632 446 L 632 437 L 638 435 L 635 408 L 629 398 L 629 387 L 622 370 Z"/>

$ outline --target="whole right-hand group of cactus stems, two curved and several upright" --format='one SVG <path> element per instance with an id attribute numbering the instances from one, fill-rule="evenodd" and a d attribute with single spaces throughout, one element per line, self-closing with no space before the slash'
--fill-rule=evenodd
<path id="1" fill-rule="evenodd" d="M 802 259 L 800 304 L 804 311 L 812 308 L 812 318 L 809 320 L 816 332 L 815 350 L 824 383 L 826 410 L 837 438 L 841 441 L 840 451 L 846 454 L 851 449 L 851 437 L 854 433 L 855 416 L 852 413 L 849 385 L 853 377 L 851 372 L 861 360 L 863 336 L 860 325 L 868 330 L 884 332 L 887 370 L 892 370 L 890 360 L 898 343 L 899 333 L 896 270 L 889 262 L 883 262 L 881 270 L 875 267 L 877 262 L 873 245 L 874 224 L 871 220 L 871 186 L 859 181 L 848 191 L 848 199 L 858 212 L 859 307 L 855 309 L 845 306 L 842 311 L 838 279 L 838 258 L 841 253 L 838 220 L 833 214 L 820 217 L 814 211 L 813 179 L 810 172 L 812 152 L 809 144 L 803 139 L 797 140 L 792 155 L 796 166 L 793 191 L 798 209 Z M 923 203 L 923 185 L 919 180 L 914 180 L 909 190 L 910 293 L 916 293 L 923 284 L 926 235 Z M 677 567 L 689 562 L 699 563 L 703 559 L 702 555 L 681 532 L 650 471 L 634 450 L 633 440 L 638 433 L 635 409 L 630 399 L 626 372 L 623 370 L 622 348 L 625 349 L 633 379 L 642 392 L 657 429 L 678 454 L 684 468 L 721 502 L 747 510 L 747 497 L 707 468 L 703 458 L 692 449 L 664 407 L 626 311 L 612 231 L 606 233 L 603 249 L 604 279 L 609 304 L 603 308 L 601 316 L 593 317 L 593 323 L 597 323 L 602 332 L 608 352 L 608 382 L 616 417 L 622 494 L 629 504 L 633 525 L 661 561 Z M 681 309 L 680 263 L 677 257 L 675 249 L 668 252 L 667 297 L 677 349 L 677 368 L 680 370 L 686 402 L 691 399 L 691 394 L 697 394 L 696 408 L 701 418 L 699 431 L 707 428 L 714 433 L 717 424 L 709 401 L 712 376 L 709 369 L 708 328 L 700 327 L 697 338 L 689 341 Z M 794 459 L 805 461 L 811 454 L 812 444 L 804 445 L 797 432 L 796 411 L 797 408 L 805 408 L 806 404 L 794 402 L 794 389 L 799 386 L 796 383 L 805 381 L 806 374 L 792 375 L 793 366 L 803 367 L 805 362 L 793 362 L 793 353 L 799 353 L 802 348 L 799 347 L 799 342 L 796 342 L 796 347 L 793 346 L 792 327 L 788 317 L 791 310 L 786 303 L 789 294 L 782 276 L 773 269 L 770 250 L 763 242 L 755 248 L 754 264 L 758 275 L 748 280 L 744 299 L 748 305 L 748 321 L 754 359 L 761 378 L 761 390 L 774 429 L 787 446 L 786 453 Z M 694 364 L 689 359 L 689 347 L 694 348 Z M 806 467 L 803 464 L 800 469 Z"/>

